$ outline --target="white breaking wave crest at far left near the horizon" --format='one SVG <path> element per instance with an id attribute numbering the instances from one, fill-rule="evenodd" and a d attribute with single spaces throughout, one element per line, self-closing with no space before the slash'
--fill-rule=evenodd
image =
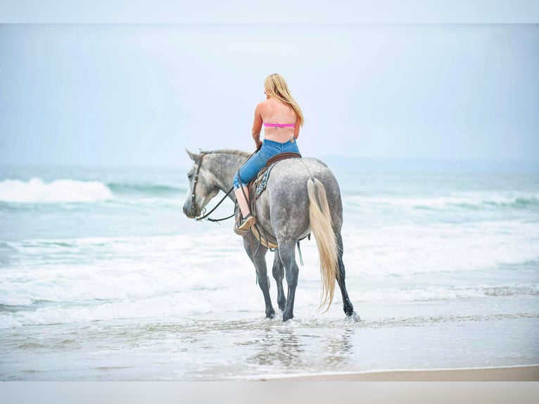
<path id="1" fill-rule="evenodd" d="M 53 182 L 43 182 L 42 179 L 32 178 L 28 182 L 18 179 L 6 179 L 0 182 L 0 201 L 4 202 L 96 202 L 112 198 L 112 191 L 98 181 L 56 179 Z"/>

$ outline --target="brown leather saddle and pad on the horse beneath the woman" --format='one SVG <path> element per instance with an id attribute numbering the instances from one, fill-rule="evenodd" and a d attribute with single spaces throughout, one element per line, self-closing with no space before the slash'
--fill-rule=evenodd
<path id="1" fill-rule="evenodd" d="M 263 167 L 259 172 L 258 175 L 249 182 L 247 188 L 249 191 L 249 203 L 251 205 L 251 215 L 255 217 L 255 225 L 251 227 L 251 232 L 253 232 L 255 238 L 262 244 L 262 246 L 265 246 L 266 248 L 275 249 L 277 248 L 277 239 L 274 238 L 270 233 L 264 229 L 259 221 L 258 221 L 258 214 L 256 210 L 256 199 L 262 194 L 262 192 L 266 189 L 267 186 L 267 180 L 270 178 L 270 173 L 272 172 L 272 169 L 274 166 L 279 163 L 281 160 L 286 160 L 288 158 L 301 158 L 301 155 L 299 153 L 293 153 L 293 152 L 286 152 L 286 153 L 279 153 L 275 156 L 271 157 L 269 160 L 267 160 L 267 163 L 265 167 Z M 239 215 L 239 206 L 236 202 L 235 210 L 234 212 L 237 215 Z M 236 231 L 238 234 L 245 235 L 249 232 L 249 230 L 246 230 L 244 232 Z"/>

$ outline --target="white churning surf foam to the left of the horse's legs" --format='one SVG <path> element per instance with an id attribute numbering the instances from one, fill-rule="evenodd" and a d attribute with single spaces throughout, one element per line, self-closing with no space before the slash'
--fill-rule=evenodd
<path id="1" fill-rule="evenodd" d="M 229 248 L 222 236 L 206 235 L 200 245 L 190 235 L 9 242 L 25 262 L 0 272 L 0 304 L 139 299 L 254 283 L 241 239 Z"/>

